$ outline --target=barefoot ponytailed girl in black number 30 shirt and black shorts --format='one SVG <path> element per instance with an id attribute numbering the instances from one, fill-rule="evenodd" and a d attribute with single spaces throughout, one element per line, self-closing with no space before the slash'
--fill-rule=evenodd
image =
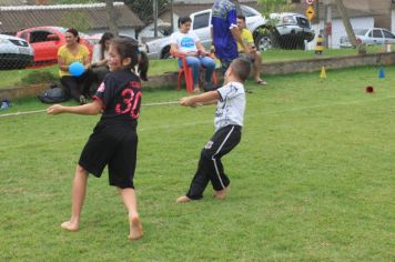
<path id="1" fill-rule="evenodd" d="M 130 38 L 115 38 L 109 50 L 110 73 L 100 84 L 93 101 L 79 107 L 54 104 L 49 114 L 75 113 L 102 117 L 82 150 L 72 188 L 71 219 L 61 224 L 69 231 L 80 226 L 89 173 L 100 178 L 108 165 L 110 185 L 117 187 L 129 211 L 129 239 L 142 238 L 133 177 L 136 162 L 136 125 L 141 105 L 141 82 L 146 80 L 148 58 Z M 133 72 L 139 64 L 140 78 Z"/>

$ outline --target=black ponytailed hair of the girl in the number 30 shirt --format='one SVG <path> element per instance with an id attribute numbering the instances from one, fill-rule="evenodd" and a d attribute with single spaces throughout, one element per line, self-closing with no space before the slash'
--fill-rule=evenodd
<path id="1" fill-rule="evenodd" d="M 130 58 L 131 63 L 128 68 L 134 70 L 138 67 L 139 75 L 142 80 L 148 81 L 146 72 L 149 69 L 149 59 L 146 53 L 139 50 L 139 42 L 129 37 L 117 37 L 112 40 L 111 44 L 120 54 L 121 60 Z"/>

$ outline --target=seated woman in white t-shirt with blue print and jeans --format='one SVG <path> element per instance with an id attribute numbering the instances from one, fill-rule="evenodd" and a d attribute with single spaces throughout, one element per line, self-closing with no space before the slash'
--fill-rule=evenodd
<path id="1" fill-rule="evenodd" d="M 191 18 L 182 17 L 179 19 L 179 31 L 171 36 L 170 53 L 174 57 L 186 57 L 186 64 L 192 68 L 193 92 L 200 92 L 199 73 L 200 67 L 205 68 L 204 89 L 211 90 L 212 74 L 215 69 L 215 61 L 207 56 L 199 37 L 190 31 Z M 180 68 L 183 67 L 182 59 L 179 59 Z"/>

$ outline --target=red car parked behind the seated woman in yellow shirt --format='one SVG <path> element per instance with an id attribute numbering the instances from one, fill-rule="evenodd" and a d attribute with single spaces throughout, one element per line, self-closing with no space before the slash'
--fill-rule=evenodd
<path id="1" fill-rule="evenodd" d="M 34 50 L 34 64 L 54 64 L 58 62 L 58 49 L 65 43 L 64 33 L 68 29 L 61 27 L 27 28 L 17 32 L 17 37 L 26 39 Z M 100 38 L 79 33 L 80 43 L 88 47 L 92 54 L 93 44 Z"/>

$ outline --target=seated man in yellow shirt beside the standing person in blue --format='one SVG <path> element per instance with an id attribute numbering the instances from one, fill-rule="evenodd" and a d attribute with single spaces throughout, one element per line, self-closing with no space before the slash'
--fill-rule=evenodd
<path id="1" fill-rule="evenodd" d="M 240 43 L 237 43 L 239 54 L 240 54 L 240 57 L 245 57 L 251 61 L 252 68 L 253 68 L 253 71 L 254 71 L 254 81 L 255 81 L 255 83 L 261 84 L 261 85 L 265 85 L 266 82 L 261 79 L 261 68 L 262 68 L 261 52 L 256 50 L 252 33 L 246 28 L 245 17 L 244 16 L 237 16 L 237 28 L 240 30 L 240 34 L 242 36 L 242 39 L 243 39 L 244 43 L 250 49 L 250 54 L 245 54 L 244 50 L 243 50 L 243 47 L 241 47 Z"/>

